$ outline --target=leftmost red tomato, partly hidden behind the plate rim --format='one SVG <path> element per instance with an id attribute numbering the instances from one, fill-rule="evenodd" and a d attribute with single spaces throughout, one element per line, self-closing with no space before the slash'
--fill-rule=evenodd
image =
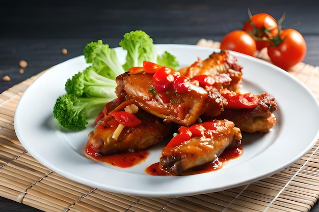
<path id="1" fill-rule="evenodd" d="M 254 56 L 256 43 L 254 38 L 243 30 L 236 30 L 227 34 L 221 41 L 221 49 L 228 49 L 250 56 Z"/>

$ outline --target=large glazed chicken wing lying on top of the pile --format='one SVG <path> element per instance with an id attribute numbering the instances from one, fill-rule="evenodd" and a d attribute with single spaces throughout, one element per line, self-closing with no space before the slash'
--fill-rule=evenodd
<path id="1" fill-rule="evenodd" d="M 144 72 L 119 75 L 116 78 L 117 97 L 120 101 L 134 100 L 143 110 L 164 119 L 165 123 L 182 126 L 191 126 L 202 114 L 216 116 L 223 110 L 223 99 L 216 88 L 205 90 L 191 85 L 186 93 L 175 92 L 173 88 L 161 93 L 152 90 L 152 76 Z"/>

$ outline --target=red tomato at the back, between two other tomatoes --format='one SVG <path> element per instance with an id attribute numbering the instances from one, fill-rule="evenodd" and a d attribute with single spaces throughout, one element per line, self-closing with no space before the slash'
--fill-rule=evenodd
<path id="1" fill-rule="evenodd" d="M 261 38 L 273 38 L 278 35 L 278 23 L 271 15 L 259 13 L 246 21 L 243 30 L 257 38 L 255 38 L 256 47 L 257 50 L 261 50 L 271 44 L 269 40 L 261 40 Z"/>

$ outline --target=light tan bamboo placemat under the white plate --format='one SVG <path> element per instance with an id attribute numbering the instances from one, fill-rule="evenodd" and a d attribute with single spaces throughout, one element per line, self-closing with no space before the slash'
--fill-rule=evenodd
<path id="1" fill-rule="evenodd" d="M 219 47 L 201 39 L 198 45 Z M 269 60 L 267 52 L 259 58 Z M 289 73 L 319 100 L 319 71 L 300 63 Z M 37 162 L 14 131 L 14 112 L 24 90 L 42 73 L 0 94 L 0 196 L 44 211 L 309 211 L 319 198 L 319 141 L 295 164 L 255 183 L 217 193 L 146 198 L 101 191 L 71 181 Z"/>

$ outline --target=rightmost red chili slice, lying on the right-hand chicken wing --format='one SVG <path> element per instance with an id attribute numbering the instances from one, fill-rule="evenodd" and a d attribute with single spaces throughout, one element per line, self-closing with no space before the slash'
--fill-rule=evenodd
<path id="1" fill-rule="evenodd" d="M 226 98 L 228 104 L 224 106 L 225 109 L 253 109 L 259 104 L 259 99 L 253 93 L 246 94 L 222 94 Z"/>

